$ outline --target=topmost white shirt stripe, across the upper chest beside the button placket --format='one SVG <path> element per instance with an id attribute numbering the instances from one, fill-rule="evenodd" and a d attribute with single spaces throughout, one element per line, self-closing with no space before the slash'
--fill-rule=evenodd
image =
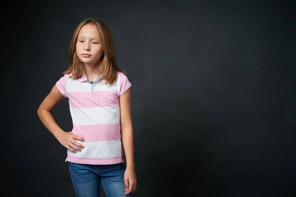
<path id="1" fill-rule="evenodd" d="M 117 80 L 114 84 L 105 85 L 106 80 L 99 80 L 93 86 L 93 91 L 117 91 L 120 89 L 120 75 L 117 75 Z M 66 78 L 66 91 L 67 93 L 72 92 L 91 92 L 91 83 L 79 80 L 74 80 L 67 76 Z"/>

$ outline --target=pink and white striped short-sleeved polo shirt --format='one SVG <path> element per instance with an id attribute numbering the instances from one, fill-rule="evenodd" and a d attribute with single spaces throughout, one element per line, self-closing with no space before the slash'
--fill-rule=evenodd
<path id="1" fill-rule="evenodd" d="M 73 79 L 64 75 L 56 86 L 69 99 L 73 133 L 84 138 L 76 153 L 67 150 L 65 162 L 78 164 L 117 164 L 124 162 L 120 134 L 119 97 L 131 87 L 126 75 L 117 72 L 114 84 L 104 78 L 91 83 L 87 76 Z"/>

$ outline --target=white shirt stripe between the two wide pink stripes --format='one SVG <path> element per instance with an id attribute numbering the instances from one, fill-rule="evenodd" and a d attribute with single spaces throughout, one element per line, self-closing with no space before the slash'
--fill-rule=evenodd
<path id="1" fill-rule="evenodd" d="M 74 125 L 107 125 L 120 121 L 119 106 L 70 108 Z"/>

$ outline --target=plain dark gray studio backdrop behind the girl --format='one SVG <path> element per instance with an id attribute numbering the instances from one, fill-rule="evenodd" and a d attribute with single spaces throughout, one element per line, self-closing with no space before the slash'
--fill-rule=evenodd
<path id="1" fill-rule="evenodd" d="M 90 17 L 110 27 L 133 84 L 135 197 L 296 195 L 293 1 L 9 3 L 1 17 L 8 196 L 75 196 L 66 148 L 37 108 L 68 66 L 76 25 Z M 68 100 L 53 115 L 71 131 Z"/>

